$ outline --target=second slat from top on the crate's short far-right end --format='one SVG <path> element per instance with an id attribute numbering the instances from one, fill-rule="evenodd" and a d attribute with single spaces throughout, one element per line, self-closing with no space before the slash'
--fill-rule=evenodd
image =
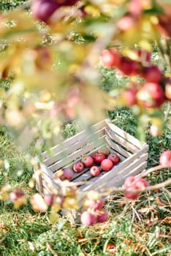
<path id="1" fill-rule="evenodd" d="M 111 129 L 105 129 L 106 135 L 114 140 L 119 145 L 126 148 L 128 151 L 131 151 L 132 153 L 135 153 L 139 150 L 136 146 L 134 146 L 132 143 L 129 143 L 129 141 L 123 139 L 121 136 L 115 134 Z"/>

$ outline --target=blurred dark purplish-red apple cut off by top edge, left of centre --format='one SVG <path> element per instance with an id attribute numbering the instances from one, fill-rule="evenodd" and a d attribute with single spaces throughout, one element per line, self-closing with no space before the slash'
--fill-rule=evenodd
<path id="1" fill-rule="evenodd" d="M 37 20 L 48 23 L 51 15 L 59 7 L 59 4 L 53 0 L 36 0 L 31 4 L 31 11 Z"/>

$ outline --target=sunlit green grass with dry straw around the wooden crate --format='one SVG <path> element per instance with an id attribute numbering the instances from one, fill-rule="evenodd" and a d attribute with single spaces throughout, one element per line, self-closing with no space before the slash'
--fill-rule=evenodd
<path id="1" fill-rule="evenodd" d="M 9 10 L 23 2 L 3 1 L 0 8 Z M 127 79 L 118 79 L 115 72 L 107 69 L 103 69 L 102 74 L 102 89 L 106 91 L 123 85 Z M 9 86 L 9 83 L 0 86 Z M 118 127 L 137 137 L 137 118 L 128 108 L 118 108 L 107 115 Z M 64 136 L 69 138 L 77 131 L 75 122 L 66 124 Z M 163 135 L 152 137 L 147 129 L 145 136 L 150 146 L 148 167 L 153 167 L 159 164 L 161 152 L 171 148 L 170 130 L 164 128 Z M 29 152 L 31 150 L 34 151 L 34 146 Z M 5 164 L 0 166 L 0 187 L 9 184 L 12 188 L 23 188 L 27 195 L 36 192 L 28 187 L 33 174 L 28 154 L 19 151 L 7 127 L 0 127 L 0 159 Z M 157 184 L 166 181 L 169 175 L 169 168 L 164 168 L 151 173 L 147 180 L 149 184 Z M 1 256 L 171 255 L 169 187 L 144 192 L 135 201 L 127 200 L 122 194 L 111 195 L 104 205 L 109 215 L 107 222 L 93 227 L 71 225 L 60 214 L 56 222 L 51 223 L 48 211 L 37 213 L 29 203 L 17 210 L 9 200 L 0 201 L 0 206 Z"/>

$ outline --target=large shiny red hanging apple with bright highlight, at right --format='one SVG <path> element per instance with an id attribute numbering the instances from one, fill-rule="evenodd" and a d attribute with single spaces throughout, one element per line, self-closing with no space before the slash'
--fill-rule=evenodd
<path id="1" fill-rule="evenodd" d="M 164 90 L 159 83 L 145 83 L 137 92 L 137 100 L 146 108 L 160 107 L 165 100 Z"/>

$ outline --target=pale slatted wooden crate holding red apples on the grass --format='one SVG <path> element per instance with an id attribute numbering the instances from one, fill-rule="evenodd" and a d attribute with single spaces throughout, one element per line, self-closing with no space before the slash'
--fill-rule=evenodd
<path id="1" fill-rule="evenodd" d="M 148 145 L 116 127 L 109 119 L 104 119 L 51 148 L 53 156 L 50 157 L 47 152 L 44 152 L 42 153 L 42 162 L 35 158 L 34 171 L 39 193 L 42 195 L 53 193 L 58 189 L 58 185 L 54 181 L 54 173 L 57 170 L 62 167 L 72 167 L 83 154 L 93 154 L 103 146 L 107 146 L 111 152 L 117 153 L 121 161 L 112 170 L 102 172 L 97 177 L 92 177 L 88 168 L 82 173 L 75 173 L 72 181 L 88 181 L 88 184 L 80 186 L 82 192 L 121 186 L 127 176 L 136 175 L 145 170 Z M 37 170 L 41 170 L 41 172 L 37 172 Z"/>

